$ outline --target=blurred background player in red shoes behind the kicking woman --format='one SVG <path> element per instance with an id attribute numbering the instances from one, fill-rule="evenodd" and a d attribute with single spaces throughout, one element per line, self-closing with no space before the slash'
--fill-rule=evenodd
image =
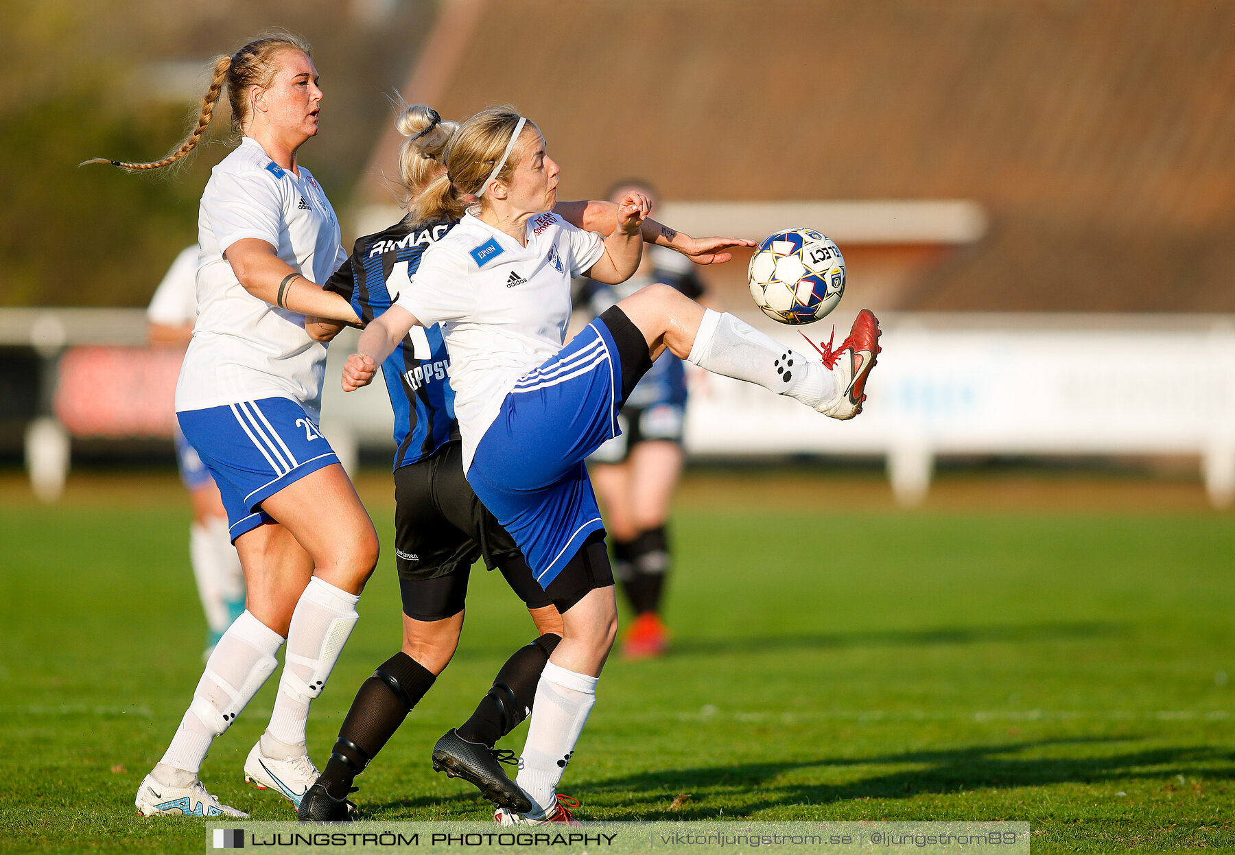
<path id="1" fill-rule="evenodd" d="M 652 187 L 642 180 L 618 182 L 608 198 L 616 203 L 632 190 L 646 195 L 653 205 L 659 201 Z M 589 320 L 655 283 L 672 285 L 692 300 L 704 294 L 693 266 L 659 246 L 643 252 L 638 269 L 626 282 L 609 285 L 587 277 L 576 282 L 574 305 Z M 592 484 L 605 512 L 614 576 L 635 612 L 621 647 L 626 659 L 659 656 L 669 644 L 661 615 L 672 565 L 666 524 L 682 474 L 685 405 L 685 363 L 666 353 L 626 398 L 618 416 L 622 432 L 588 458 Z"/>

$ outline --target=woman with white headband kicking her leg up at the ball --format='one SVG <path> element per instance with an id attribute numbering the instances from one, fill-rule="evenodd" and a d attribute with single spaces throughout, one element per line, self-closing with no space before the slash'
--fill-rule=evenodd
<path id="1" fill-rule="evenodd" d="M 595 702 L 618 631 L 604 523 L 584 458 L 619 432 L 622 403 L 664 351 L 795 398 L 835 419 L 862 409 L 878 353 L 873 314 L 824 362 L 705 310 L 668 285 L 620 300 L 574 339 L 571 279 L 616 284 L 638 266 L 650 201 L 626 193 L 603 238 L 552 213 L 558 166 L 535 124 L 511 107 L 468 119 L 443 156 L 446 174 L 417 199 L 421 220 L 462 220 L 425 251 L 395 304 L 369 322 L 343 388 L 371 382 L 415 325 L 441 324 L 467 479 L 522 550 L 562 615 L 563 638 L 541 672 L 516 783 L 531 808 L 503 824 L 573 823 L 557 785 Z M 469 196 L 479 199 L 469 205 Z M 464 213 L 466 211 L 466 213 Z"/>

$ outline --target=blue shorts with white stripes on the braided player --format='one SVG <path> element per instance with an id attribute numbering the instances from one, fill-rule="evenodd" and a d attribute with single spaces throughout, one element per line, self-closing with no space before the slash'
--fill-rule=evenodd
<path id="1" fill-rule="evenodd" d="M 274 521 L 261 509 L 264 499 L 338 462 L 316 423 L 290 398 L 184 410 L 177 418 L 219 486 L 232 541 Z"/>

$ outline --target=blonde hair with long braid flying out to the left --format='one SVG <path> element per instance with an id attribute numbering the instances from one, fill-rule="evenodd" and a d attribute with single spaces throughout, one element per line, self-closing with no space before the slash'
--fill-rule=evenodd
<path id="1" fill-rule="evenodd" d="M 151 163 L 128 163 L 125 161 L 112 161 L 106 157 L 94 157 L 83 161 L 78 166 L 86 163 L 110 163 L 120 167 L 125 172 L 143 172 L 146 169 L 159 169 L 170 166 L 182 157 L 191 152 L 206 132 L 206 126 L 215 114 L 215 105 L 224 85 L 227 86 L 227 100 L 231 104 L 231 125 L 237 136 L 245 132 L 245 125 L 249 119 L 248 88 L 269 86 L 274 82 L 274 75 L 279 70 L 274 57 L 282 51 L 300 51 L 305 56 L 312 56 L 309 43 L 289 32 L 279 32 L 262 36 L 236 53 L 215 58 L 214 70 L 210 75 L 210 86 L 201 98 L 201 107 L 198 110 L 198 125 L 193 131 L 173 148 L 167 157 Z"/>

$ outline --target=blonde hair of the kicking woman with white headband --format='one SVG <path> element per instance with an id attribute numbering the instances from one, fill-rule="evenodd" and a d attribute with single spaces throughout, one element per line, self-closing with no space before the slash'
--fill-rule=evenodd
<path id="1" fill-rule="evenodd" d="M 463 216 L 472 204 L 468 196 L 480 195 L 520 119 L 517 110 L 503 105 L 487 107 L 464 121 L 441 156 L 446 174 L 430 182 L 412 205 L 415 219 L 457 220 Z M 530 121 L 526 127 L 538 131 Z M 514 168 L 515 164 L 508 159 L 494 178 L 509 182 Z"/>

